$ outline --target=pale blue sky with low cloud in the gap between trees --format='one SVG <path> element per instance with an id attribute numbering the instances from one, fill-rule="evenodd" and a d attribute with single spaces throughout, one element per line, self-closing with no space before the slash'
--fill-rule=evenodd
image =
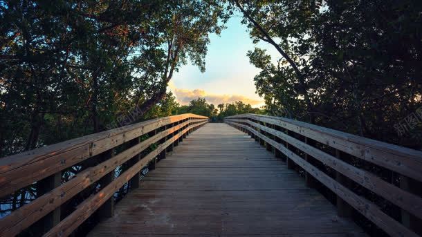
<path id="1" fill-rule="evenodd" d="M 267 49 L 274 59 L 277 51 L 265 42 L 253 44 L 238 15 L 232 16 L 226 26 L 221 35 L 210 35 L 205 73 L 187 64 L 174 74 L 169 88 L 180 104 L 205 97 L 214 105 L 239 100 L 254 107 L 264 105 L 264 100 L 255 93 L 253 81 L 260 70 L 249 63 L 246 53 L 258 46 Z"/>

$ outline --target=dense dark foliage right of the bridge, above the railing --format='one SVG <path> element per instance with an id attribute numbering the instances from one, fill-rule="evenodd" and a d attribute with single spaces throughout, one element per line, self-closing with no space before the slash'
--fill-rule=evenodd
<path id="1" fill-rule="evenodd" d="M 422 146 L 422 3 L 235 1 L 250 37 L 280 53 L 248 53 L 271 115 Z"/>

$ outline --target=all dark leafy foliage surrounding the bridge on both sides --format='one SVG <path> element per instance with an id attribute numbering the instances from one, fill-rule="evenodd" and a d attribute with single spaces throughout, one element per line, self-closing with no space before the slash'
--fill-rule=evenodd
<path id="1" fill-rule="evenodd" d="M 279 53 L 248 52 L 266 110 L 203 98 L 180 106 L 167 84 L 189 61 L 205 70 L 209 35 L 233 11 L 253 41 Z M 416 0 L 0 0 L 0 157 L 180 113 L 212 122 L 268 113 L 422 149 L 421 12 Z M 66 169 L 62 180 L 88 166 Z M 64 213 L 93 192 L 95 184 Z M 0 216 L 37 195 L 32 184 L 2 197 Z"/>

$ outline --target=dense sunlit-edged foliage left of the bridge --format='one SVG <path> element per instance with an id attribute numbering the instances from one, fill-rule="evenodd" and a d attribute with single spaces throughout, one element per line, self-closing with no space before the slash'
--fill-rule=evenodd
<path id="1" fill-rule="evenodd" d="M 134 108 L 139 120 L 168 114 L 174 71 L 188 60 L 205 70 L 208 35 L 226 19 L 218 0 L 0 1 L 0 157 L 102 131 Z"/>

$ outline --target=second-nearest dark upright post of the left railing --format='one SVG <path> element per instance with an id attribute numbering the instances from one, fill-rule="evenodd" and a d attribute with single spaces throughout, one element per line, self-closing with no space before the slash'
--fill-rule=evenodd
<path id="1" fill-rule="evenodd" d="M 114 149 L 110 149 L 109 151 L 105 151 L 100 155 L 100 162 L 103 162 L 105 160 L 108 160 L 114 156 Z M 110 173 L 107 173 L 105 176 L 103 176 L 99 183 L 101 185 L 101 188 L 106 187 L 108 184 L 113 182 L 115 178 L 115 171 L 111 171 Z M 104 204 L 98 209 L 98 216 L 100 218 L 109 218 L 113 216 L 114 214 L 114 196 L 111 196 L 109 200 L 104 202 Z"/>

